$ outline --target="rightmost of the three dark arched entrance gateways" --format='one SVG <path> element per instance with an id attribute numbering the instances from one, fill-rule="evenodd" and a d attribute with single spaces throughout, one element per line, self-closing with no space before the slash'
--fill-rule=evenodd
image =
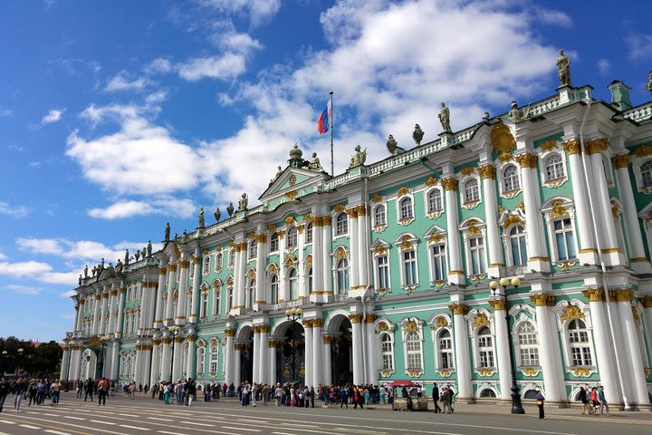
<path id="1" fill-rule="evenodd" d="M 331 382 L 335 385 L 353 383 L 351 330 L 349 317 L 338 314 L 328 323 L 328 331 L 324 336 L 324 343 L 331 344 Z"/>

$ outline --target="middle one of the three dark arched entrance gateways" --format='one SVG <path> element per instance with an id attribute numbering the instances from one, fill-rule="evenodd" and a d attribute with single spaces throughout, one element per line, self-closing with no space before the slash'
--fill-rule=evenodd
<path id="1" fill-rule="evenodd" d="M 286 321 L 275 333 L 280 337 L 276 347 L 276 382 L 305 382 L 305 330 L 301 322 Z"/>

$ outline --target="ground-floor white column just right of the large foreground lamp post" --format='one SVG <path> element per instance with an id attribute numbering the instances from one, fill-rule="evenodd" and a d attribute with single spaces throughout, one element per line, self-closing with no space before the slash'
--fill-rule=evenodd
<path id="1" fill-rule="evenodd" d="M 546 400 L 550 402 L 568 401 L 563 385 L 563 373 L 556 359 L 555 346 L 559 347 L 557 327 L 551 318 L 550 306 L 554 305 L 554 296 L 532 295 L 530 299 L 536 304 L 536 322 L 539 338 L 539 360 L 543 372 L 543 388 Z"/>

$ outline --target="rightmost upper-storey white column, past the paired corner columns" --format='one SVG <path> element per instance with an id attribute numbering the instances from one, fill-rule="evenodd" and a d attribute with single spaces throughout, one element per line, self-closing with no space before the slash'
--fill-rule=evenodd
<path id="1" fill-rule="evenodd" d="M 623 218 L 625 219 L 625 234 L 629 248 L 629 262 L 633 269 L 650 269 L 649 261 L 643 247 L 643 236 L 638 223 L 637 207 L 634 192 L 631 188 L 628 165 L 631 158 L 622 154 L 614 158 L 618 176 L 618 192 L 623 203 Z M 638 271 L 638 270 L 637 270 Z"/>

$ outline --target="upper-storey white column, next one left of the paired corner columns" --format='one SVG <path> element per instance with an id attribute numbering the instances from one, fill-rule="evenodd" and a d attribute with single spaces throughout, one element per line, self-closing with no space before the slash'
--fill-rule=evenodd
<path id="1" fill-rule="evenodd" d="M 523 182 L 523 203 L 525 204 L 525 224 L 527 225 L 528 267 L 538 272 L 550 268 L 550 258 L 543 244 L 543 224 L 540 207 L 537 201 L 536 189 L 539 183 L 537 156 L 522 154 L 516 158 L 521 167 Z"/>

